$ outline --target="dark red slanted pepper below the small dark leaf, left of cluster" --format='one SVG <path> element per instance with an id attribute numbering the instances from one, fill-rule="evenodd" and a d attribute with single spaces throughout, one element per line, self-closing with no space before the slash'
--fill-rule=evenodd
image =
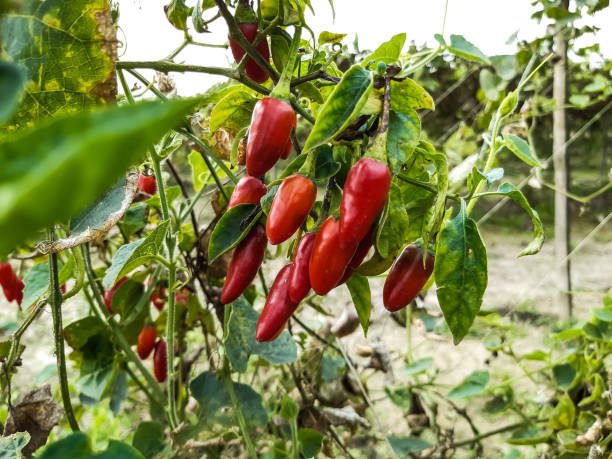
<path id="1" fill-rule="evenodd" d="M 221 303 L 234 301 L 255 279 L 267 245 L 266 230 L 261 225 L 255 225 L 247 237 L 240 241 L 227 269 L 227 277 L 221 291 Z"/>

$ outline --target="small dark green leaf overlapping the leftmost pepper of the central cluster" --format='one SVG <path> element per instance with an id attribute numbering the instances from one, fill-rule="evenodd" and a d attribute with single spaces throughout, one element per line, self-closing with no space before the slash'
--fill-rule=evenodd
<path id="1" fill-rule="evenodd" d="M 236 247 L 249 234 L 261 216 L 261 212 L 253 214 L 256 207 L 253 204 L 240 204 L 223 214 L 210 235 L 208 243 L 210 263 Z"/>

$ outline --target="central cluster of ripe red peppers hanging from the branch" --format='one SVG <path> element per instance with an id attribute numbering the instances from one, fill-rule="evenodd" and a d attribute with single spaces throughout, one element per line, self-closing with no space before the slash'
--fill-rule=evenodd
<path id="1" fill-rule="evenodd" d="M 257 36 L 257 20 L 252 10 L 243 9 L 241 5 L 242 2 L 236 20 L 245 38 L 253 43 Z M 299 31 L 296 36 L 294 43 L 299 41 Z M 234 59 L 240 62 L 245 52 L 232 37 L 230 47 Z M 256 49 L 268 60 L 265 37 L 256 44 Z M 271 95 L 255 105 L 246 142 L 248 175 L 236 185 L 229 208 L 240 204 L 259 205 L 267 192 L 263 176 L 291 152 L 290 135 L 296 127 L 297 117 L 287 101 L 287 78 L 293 70 L 295 51 L 290 51 L 289 62 Z M 268 77 L 251 58 L 247 58 L 245 73 L 260 83 Z M 340 218 L 336 220 L 330 216 L 316 233 L 304 234 L 294 250 L 293 261 L 278 272 L 257 324 L 258 341 L 275 339 L 311 289 L 318 295 L 326 295 L 351 277 L 374 245 L 376 221 L 385 206 L 390 186 L 391 172 L 384 162 L 364 157 L 353 165 L 342 193 Z M 315 184 L 303 175 L 293 174 L 282 181 L 272 201 L 265 229 L 256 223 L 232 255 L 221 292 L 223 304 L 237 299 L 251 284 L 263 263 L 268 243 L 281 244 L 304 225 L 316 195 Z M 420 246 L 406 247 L 385 282 L 385 307 L 396 311 L 409 304 L 432 271 L 432 256 L 425 257 Z"/>

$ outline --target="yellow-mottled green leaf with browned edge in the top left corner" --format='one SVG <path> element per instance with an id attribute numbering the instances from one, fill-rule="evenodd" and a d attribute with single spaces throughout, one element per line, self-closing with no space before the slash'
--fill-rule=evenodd
<path id="1" fill-rule="evenodd" d="M 109 2 L 20 3 L 19 12 L 0 19 L 0 54 L 19 64 L 28 80 L 7 128 L 114 101 L 117 48 Z M 70 65 L 58 65 L 61 62 Z"/>

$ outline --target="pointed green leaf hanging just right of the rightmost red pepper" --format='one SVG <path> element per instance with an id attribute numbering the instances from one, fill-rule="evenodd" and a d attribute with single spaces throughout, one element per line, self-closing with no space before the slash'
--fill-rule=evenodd
<path id="1" fill-rule="evenodd" d="M 434 275 L 438 301 L 457 344 L 474 322 L 487 288 L 487 251 L 464 201 L 438 236 Z"/>

